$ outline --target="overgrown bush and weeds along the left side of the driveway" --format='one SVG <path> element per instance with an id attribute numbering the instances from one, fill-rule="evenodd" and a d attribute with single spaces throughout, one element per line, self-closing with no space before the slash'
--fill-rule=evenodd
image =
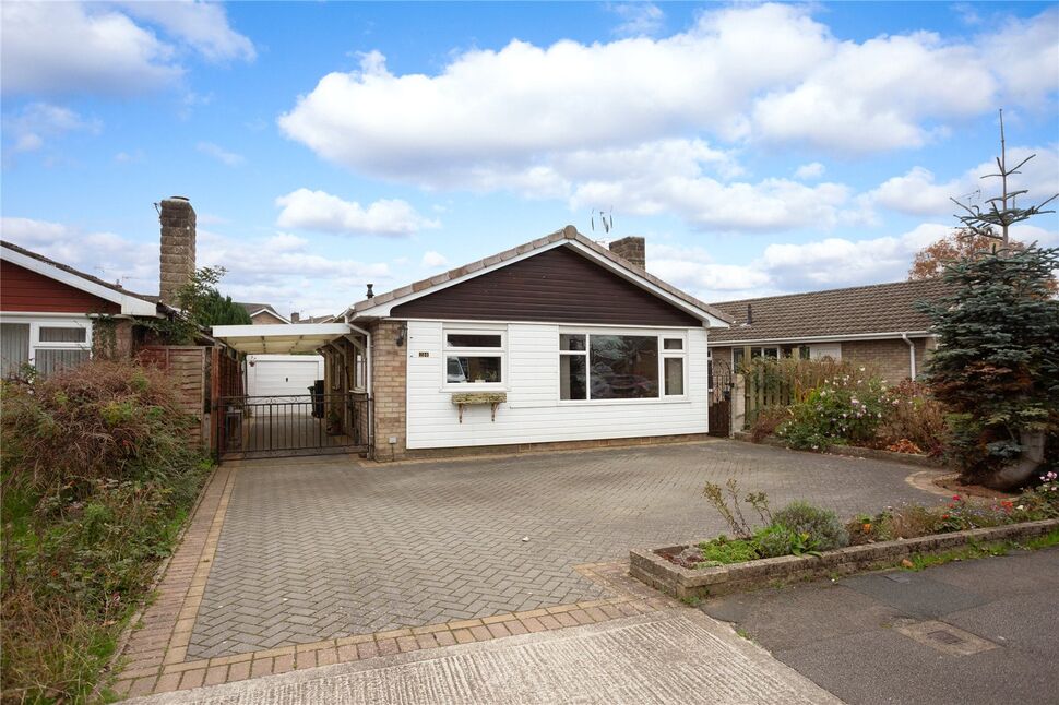
<path id="1" fill-rule="evenodd" d="M 209 469 L 172 383 L 93 360 L 3 383 L 7 701 L 87 698 Z"/>

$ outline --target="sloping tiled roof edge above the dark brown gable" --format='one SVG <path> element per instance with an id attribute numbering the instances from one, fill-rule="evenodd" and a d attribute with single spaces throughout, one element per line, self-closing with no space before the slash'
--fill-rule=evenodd
<path id="1" fill-rule="evenodd" d="M 479 270 L 484 270 L 488 266 L 499 264 L 504 260 L 514 259 L 521 254 L 532 252 L 533 250 L 539 250 L 540 248 L 547 247 L 560 240 L 572 240 L 574 242 L 578 242 L 579 244 L 583 244 L 584 247 L 590 248 L 596 254 L 599 254 L 600 256 L 604 256 L 610 260 L 611 262 L 621 265 L 626 270 L 629 270 L 633 274 L 646 279 L 647 282 L 655 285 L 663 291 L 669 294 L 670 296 L 676 297 L 681 301 L 685 301 L 686 303 L 690 303 L 691 306 L 700 310 L 707 311 L 711 315 L 716 316 L 722 321 L 730 320 L 729 316 L 725 315 L 722 311 L 717 310 L 716 308 L 711 307 L 709 303 L 704 303 L 699 299 L 694 298 L 693 296 L 689 294 L 685 294 L 680 289 L 674 286 L 670 286 L 669 284 L 666 284 L 665 282 L 654 276 L 653 274 L 647 273 L 645 270 L 642 270 L 636 265 L 626 261 L 624 259 L 619 258 L 617 254 L 615 254 L 607 248 L 603 247 L 602 244 L 598 244 L 597 242 L 593 242 L 591 239 L 578 232 L 578 229 L 572 225 L 568 225 L 561 230 L 556 230 L 551 235 L 547 235 L 543 238 L 537 238 L 536 240 L 526 242 L 524 244 L 520 244 L 519 247 L 511 248 L 510 250 L 504 250 L 499 254 L 493 254 L 492 256 L 485 258 L 484 260 L 478 260 L 477 262 L 465 264 L 464 266 L 456 267 L 455 270 L 449 270 L 448 272 L 443 272 L 442 274 L 438 274 L 428 279 L 421 279 L 419 282 L 415 282 L 407 286 L 403 286 L 400 289 L 386 291 L 385 294 L 379 294 L 370 299 L 364 299 L 362 301 L 357 301 L 356 303 L 353 304 L 353 307 L 350 307 L 350 309 L 353 313 L 356 315 L 361 311 L 366 311 L 381 303 L 388 303 L 395 299 L 406 297 L 409 294 L 417 294 L 425 289 L 429 289 L 431 287 L 439 286 L 447 282 L 451 282 L 452 279 L 459 279 L 460 277 L 466 276 L 467 274 L 472 274 Z"/>

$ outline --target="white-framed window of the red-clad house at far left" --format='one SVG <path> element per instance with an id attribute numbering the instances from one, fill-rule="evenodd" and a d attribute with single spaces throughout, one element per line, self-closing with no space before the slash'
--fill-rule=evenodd
<path id="1" fill-rule="evenodd" d="M 74 367 L 92 355 L 92 321 L 74 318 L 0 315 L 0 375 L 32 365 L 40 374 Z"/>

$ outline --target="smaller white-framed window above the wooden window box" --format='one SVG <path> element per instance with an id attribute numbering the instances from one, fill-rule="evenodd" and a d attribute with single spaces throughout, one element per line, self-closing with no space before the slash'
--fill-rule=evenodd
<path id="1" fill-rule="evenodd" d="M 504 328 L 445 327 L 442 336 L 442 386 L 454 391 L 507 389 L 508 333 Z"/>

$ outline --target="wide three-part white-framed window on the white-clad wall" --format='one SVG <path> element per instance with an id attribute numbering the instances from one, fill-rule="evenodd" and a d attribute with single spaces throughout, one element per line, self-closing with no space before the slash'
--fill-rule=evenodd
<path id="1" fill-rule="evenodd" d="M 687 389 L 682 331 L 559 331 L 560 402 L 678 401 Z"/>

